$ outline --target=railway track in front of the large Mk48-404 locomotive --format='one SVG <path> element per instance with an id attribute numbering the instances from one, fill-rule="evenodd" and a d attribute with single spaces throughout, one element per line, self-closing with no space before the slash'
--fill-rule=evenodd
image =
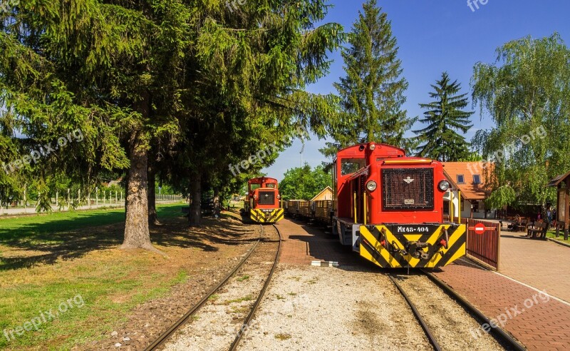
<path id="1" fill-rule="evenodd" d="M 389 273 L 388 278 L 408 302 L 434 350 L 526 350 L 500 327 L 482 332 L 480 325 L 490 325 L 489 318 L 432 273 Z"/>

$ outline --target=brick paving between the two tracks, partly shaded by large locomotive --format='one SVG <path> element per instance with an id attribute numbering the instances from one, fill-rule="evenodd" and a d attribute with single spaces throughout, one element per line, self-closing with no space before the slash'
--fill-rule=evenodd
<path id="1" fill-rule="evenodd" d="M 281 220 L 277 227 L 284 240 L 281 263 L 310 265 L 311 261 L 319 260 L 343 265 L 355 262 L 350 248 L 343 247 L 336 236 L 324 233 L 321 228 L 288 219 Z"/>

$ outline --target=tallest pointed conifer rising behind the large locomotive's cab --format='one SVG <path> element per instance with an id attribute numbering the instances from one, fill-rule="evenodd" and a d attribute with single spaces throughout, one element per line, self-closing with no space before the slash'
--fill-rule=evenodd
<path id="1" fill-rule="evenodd" d="M 321 150 L 326 156 L 364 141 L 410 146 L 404 133 L 415 118 L 402 109 L 408 82 L 391 26 L 376 0 L 366 1 L 348 34 L 349 46 L 342 51 L 346 76 L 335 87 L 344 123 L 332 134 L 335 142 Z"/>

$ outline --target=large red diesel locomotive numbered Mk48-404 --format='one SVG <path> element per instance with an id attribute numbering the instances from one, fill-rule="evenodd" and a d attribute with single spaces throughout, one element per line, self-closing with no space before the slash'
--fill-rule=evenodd
<path id="1" fill-rule="evenodd" d="M 434 268 L 465 255 L 465 225 L 445 223 L 450 188 L 438 161 L 363 143 L 334 161 L 334 233 L 383 268 Z"/>

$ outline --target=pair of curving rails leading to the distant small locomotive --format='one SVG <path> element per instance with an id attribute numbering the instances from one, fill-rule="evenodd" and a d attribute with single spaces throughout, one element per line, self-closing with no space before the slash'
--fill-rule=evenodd
<path id="1" fill-rule="evenodd" d="M 265 283 L 264 283 L 263 287 L 261 288 L 261 291 L 259 292 L 257 300 L 254 302 L 254 305 L 252 306 L 252 309 L 249 312 L 249 315 L 247 315 L 244 322 L 242 323 L 242 327 L 239 329 L 239 332 L 237 332 L 237 335 L 234 338 L 232 345 L 229 347 L 229 350 L 235 350 L 237 345 L 239 344 L 239 341 L 242 339 L 244 332 L 247 330 L 249 323 L 252 321 L 254 314 L 257 311 L 257 307 L 259 307 L 259 303 L 261 302 L 261 300 L 264 297 L 264 294 L 267 290 L 267 287 L 269 286 L 269 283 L 271 282 L 271 278 L 274 274 L 277 263 L 279 261 L 279 255 L 281 254 L 281 233 L 279 232 L 279 229 L 275 225 L 271 225 L 271 226 L 272 226 L 272 228 L 274 228 L 274 230 L 276 230 L 276 233 L 279 236 L 277 250 L 276 250 L 276 254 L 274 256 L 274 261 L 273 261 L 273 264 L 271 266 L 271 270 L 269 271 L 269 274 L 267 275 L 267 278 L 265 279 Z M 164 346 L 167 343 L 167 341 L 170 339 L 170 337 L 172 337 L 172 335 L 174 335 L 175 332 L 177 332 L 177 330 L 180 330 L 180 328 L 183 325 L 185 325 L 190 319 L 192 319 L 192 317 L 196 315 L 196 313 L 200 310 L 200 308 L 202 308 L 208 300 L 212 299 L 214 294 L 217 291 L 219 291 L 224 285 L 226 285 L 228 283 L 228 281 L 232 277 L 234 277 L 234 275 L 236 275 L 236 273 L 241 268 L 244 267 L 244 264 L 252 256 L 254 251 L 258 248 L 259 243 L 261 243 L 263 241 L 263 237 L 265 234 L 265 228 L 263 225 L 260 225 L 260 228 L 261 228 L 261 233 L 259 235 L 259 238 L 254 243 L 252 248 L 249 250 L 247 255 L 245 255 L 244 258 L 242 258 L 242 260 L 239 261 L 239 263 L 234 267 L 234 269 L 232 269 L 232 271 L 229 272 L 229 274 L 227 276 L 225 276 L 216 286 L 214 286 L 214 288 L 212 288 L 212 290 L 209 290 L 209 292 L 207 292 L 206 295 L 204 295 L 204 297 L 202 297 L 202 299 L 199 300 L 199 302 L 197 302 L 196 305 L 192 306 L 192 308 L 190 308 L 190 310 L 188 310 L 185 313 L 185 315 L 180 317 L 179 320 L 177 320 L 173 325 L 171 325 L 167 330 L 165 330 L 165 332 L 163 332 L 154 342 L 152 342 L 152 344 L 150 344 L 145 349 L 145 351 L 158 350 L 160 347 Z"/>

